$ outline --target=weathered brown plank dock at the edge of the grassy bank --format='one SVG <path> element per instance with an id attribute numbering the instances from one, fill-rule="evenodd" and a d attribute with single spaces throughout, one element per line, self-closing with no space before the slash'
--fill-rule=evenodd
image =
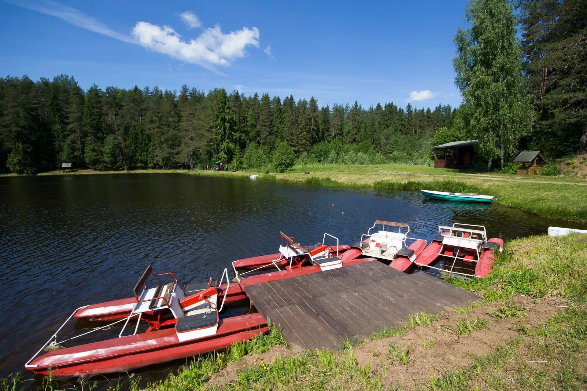
<path id="1" fill-rule="evenodd" d="M 245 287 L 261 315 L 292 348 L 333 349 L 346 337 L 369 338 L 410 314 L 452 311 L 480 297 L 426 273 L 406 274 L 369 261 Z"/>

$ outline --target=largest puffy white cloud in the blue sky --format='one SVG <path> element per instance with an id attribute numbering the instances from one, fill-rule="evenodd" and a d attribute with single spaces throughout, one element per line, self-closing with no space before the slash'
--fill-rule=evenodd
<path id="1" fill-rule="evenodd" d="M 225 34 L 219 25 L 206 29 L 196 39 L 181 40 L 176 30 L 169 26 L 137 22 L 132 35 L 139 45 L 159 53 L 196 64 L 224 65 L 246 55 L 249 45 L 259 47 L 259 30 L 247 27 Z"/>

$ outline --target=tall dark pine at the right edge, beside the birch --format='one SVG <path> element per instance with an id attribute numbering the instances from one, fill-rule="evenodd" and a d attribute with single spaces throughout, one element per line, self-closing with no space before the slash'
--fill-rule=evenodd
<path id="1" fill-rule="evenodd" d="M 522 53 L 537 124 L 536 148 L 587 152 L 587 7 L 581 0 L 524 0 Z"/>

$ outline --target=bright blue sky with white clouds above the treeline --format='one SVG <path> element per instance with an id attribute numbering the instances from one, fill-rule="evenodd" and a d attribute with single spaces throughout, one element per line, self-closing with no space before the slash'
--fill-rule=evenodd
<path id="1" fill-rule="evenodd" d="M 458 106 L 453 37 L 466 5 L 0 0 L 0 75 Z"/>

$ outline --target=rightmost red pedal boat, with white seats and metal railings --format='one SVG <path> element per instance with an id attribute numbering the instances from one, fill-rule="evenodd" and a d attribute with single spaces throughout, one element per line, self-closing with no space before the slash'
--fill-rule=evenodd
<path id="1" fill-rule="evenodd" d="M 415 264 L 434 268 L 442 273 L 485 277 L 495 261 L 494 251 L 501 252 L 503 249 L 502 239 L 487 239 L 487 230 L 484 226 L 454 223 L 451 227 L 438 226 L 438 236 L 417 257 Z M 448 262 L 444 263 L 443 267 L 432 266 L 441 259 L 452 260 L 450 267 L 447 265 Z M 474 266 L 474 274 L 457 271 L 460 268 L 457 262 L 463 263 L 464 266 Z"/>

